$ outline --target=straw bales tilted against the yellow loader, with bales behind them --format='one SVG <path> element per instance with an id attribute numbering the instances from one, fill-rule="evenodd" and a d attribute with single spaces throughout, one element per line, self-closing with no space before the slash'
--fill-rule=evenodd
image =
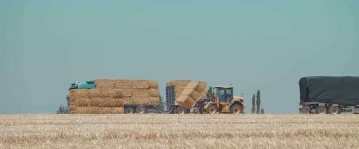
<path id="1" fill-rule="evenodd" d="M 176 102 L 182 107 L 192 108 L 199 99 L 207 96 L 207 83 L 204 81 L 173 80 L 166 82 L 166 87 L 174 86 Z"/>

